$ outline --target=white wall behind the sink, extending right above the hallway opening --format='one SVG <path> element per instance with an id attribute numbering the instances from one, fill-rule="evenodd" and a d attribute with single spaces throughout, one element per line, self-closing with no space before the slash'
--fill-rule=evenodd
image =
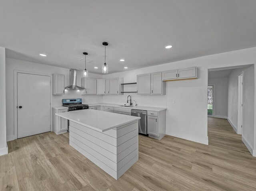
<path id="1" fill-rule="evenodd" d="M 166 82 L 165 96 L 132 94 L 139 105 L 164 106 L 166 134 L 208 144 L 207 136 L 207 87 L 208 69 L 254 64 L 256 47 L 227 53 L 208 55 L 132 71 L 104 75 L 104 78 L 124 77 L 124 82 L 136 82 L 136 75 L 157 71 L 198 67 L 198 79 Z M 111 64 L 109 64 L 111 67 Z M 104 102 L 123 103 L 128 94 L 104 96 Z M 174 104 L 172 102 L 174 101 Z"/>

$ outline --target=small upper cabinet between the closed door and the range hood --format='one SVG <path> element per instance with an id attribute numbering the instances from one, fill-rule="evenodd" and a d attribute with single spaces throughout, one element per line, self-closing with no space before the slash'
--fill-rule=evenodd
<path id="1" fill-rule="evenodd" d="M 61 95 L 65 94 L 64 75 L 53 74 L 52 75 L 52 94 Z"/>

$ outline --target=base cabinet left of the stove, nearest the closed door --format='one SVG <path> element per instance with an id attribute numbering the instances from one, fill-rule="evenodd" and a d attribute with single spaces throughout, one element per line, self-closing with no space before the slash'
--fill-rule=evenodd
<path id="1" fill-rule="evenodd" d="M 68 108 L 63 108 L 63 107 L 56 107 L 53 108 L 53 132 L 55 132 L 57 135 L 66 133 L 68 130 L 68 120 L 59 116 L 56 116 L 56 113 L 61 113 L 61 112 L 68 112 Z"/>

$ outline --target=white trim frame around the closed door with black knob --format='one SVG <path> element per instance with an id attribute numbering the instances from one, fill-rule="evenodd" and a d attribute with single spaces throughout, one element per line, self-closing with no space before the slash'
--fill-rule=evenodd
<path id="1" fill-rule="evenodd" d="M 21 70 L 14 70 L 14 139 L 18 138 L 18 83 L 17 83 L 17 74 L 24 73 L 24 74 L 34 74 L 34 75 L 44 75 L 50 77 L 50 130 L 52 131 L 52 74 L 44 74 L 38 72 L 28 72 L 28 71 L 21 71 Z"/>

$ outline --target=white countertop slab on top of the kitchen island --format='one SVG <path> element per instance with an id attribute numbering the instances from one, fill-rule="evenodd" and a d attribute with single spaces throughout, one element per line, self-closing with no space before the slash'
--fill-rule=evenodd
<path id="1" fill-rule="evenodd" d="M 120 115 L 94 109 L 56 113 L 56 115 L 99 132 L 104 132 L 140 119 L 140 117 L 136 116 Z"/>

